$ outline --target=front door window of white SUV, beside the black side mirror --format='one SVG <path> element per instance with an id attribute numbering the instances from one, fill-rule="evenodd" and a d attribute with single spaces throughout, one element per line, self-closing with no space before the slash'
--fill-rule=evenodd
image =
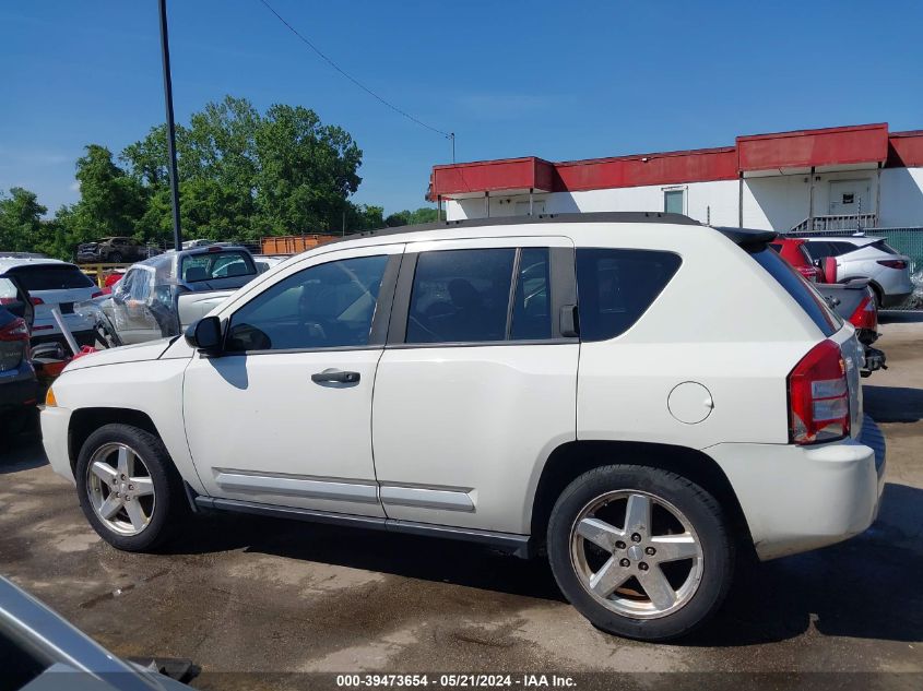
<path id="1" fill-rule="evenodd" d="M 226 349 L 368 345 L 387 257 L 344 259 L 279 282 L 230 318 Z"/>

